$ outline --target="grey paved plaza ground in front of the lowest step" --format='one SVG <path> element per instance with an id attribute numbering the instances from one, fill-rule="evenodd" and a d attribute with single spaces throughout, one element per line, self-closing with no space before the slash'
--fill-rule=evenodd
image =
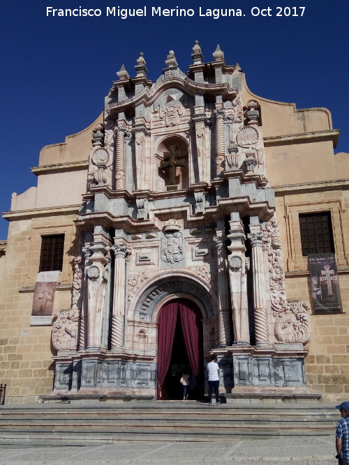
<path id="1" fill-rule="evenodd" d="M 119 441 L 86 447 L 0 446 L 0 464 L 336 465 L 334 438 L 224 442 Z"/>

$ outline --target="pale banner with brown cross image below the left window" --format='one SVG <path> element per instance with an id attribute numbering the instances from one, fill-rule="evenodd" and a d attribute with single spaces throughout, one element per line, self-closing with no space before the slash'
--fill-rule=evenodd
<path id="1" fill-rule="evenodd" d="M 41 271 L 38 273 L 31 310 L 31 326 L 52 324 L 54 293 L 59 273 L 59 271 Z"/>

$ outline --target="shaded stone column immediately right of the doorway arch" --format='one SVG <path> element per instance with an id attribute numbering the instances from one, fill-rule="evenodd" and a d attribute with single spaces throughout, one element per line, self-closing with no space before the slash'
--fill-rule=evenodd
<path id="1" fill-rule="evenodd" d="M 220 220 L 218 220 L 219 222 Z M 214 241 L 217 246 L 217 286 L 218 286 L 218 345 L 227 346 L 231 342 L 232 331 L 228 303 L 228 270 L 225 266 L 226 253 L 224 247 L 225 228 L 216 229 Z"/>

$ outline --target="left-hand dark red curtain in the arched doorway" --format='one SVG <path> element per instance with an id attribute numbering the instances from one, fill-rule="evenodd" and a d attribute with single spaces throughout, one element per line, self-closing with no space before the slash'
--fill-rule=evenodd
<path id="1" fill-rule="evenodd" d="M 178 303 L 168 303 L 161 309 L 158 318 L 158 399 L 161 399 L 161 387 L 165 382 L 172 356 L 177 313 Z"/>

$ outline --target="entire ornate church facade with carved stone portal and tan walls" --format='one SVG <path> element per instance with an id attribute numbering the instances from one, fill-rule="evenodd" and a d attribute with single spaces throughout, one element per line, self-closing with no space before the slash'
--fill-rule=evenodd
<path id="1" fill-rule="evenodd" d="M 255 96 L 198 43 L 46 146 L 1 257 L 8 402 L 348 394 L 346 153 L 327 109 Z M 177 386 L 177 387 L 176 387 Z M 309 397 L 309 398 L 310 398 Z"/>

